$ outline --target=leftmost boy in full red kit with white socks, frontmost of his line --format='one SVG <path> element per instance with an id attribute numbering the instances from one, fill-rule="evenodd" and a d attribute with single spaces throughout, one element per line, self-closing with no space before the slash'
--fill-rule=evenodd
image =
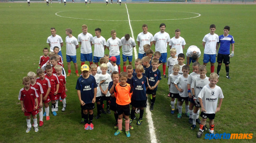
<path id="1" fill-rule="evenodd" d="M 27 116 L 27 130 L 26 133 L 29 133 L 31 130 L 30 118 L 32 115 L 35 132 L 38 132 L 38 124 L 36 119 L 36 114 L 38 113 L 38 94 L 34 87 L 30 87 L 30 79 L 29 77 L 23 77 L 22 84 L 24 87 L 19 91 L 19 100 L 21 101 L 21 110 L 24 112 L 24 115 Z"/>

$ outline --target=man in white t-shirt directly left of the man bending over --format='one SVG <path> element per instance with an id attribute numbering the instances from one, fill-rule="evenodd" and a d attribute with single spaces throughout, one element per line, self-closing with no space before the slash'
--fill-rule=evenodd
<path id="1" fill-rule="evenodd" d="M 182 38 L 180 36 L 180 29 L 175 30 L 175 37 L 171 38 L 169 45 L 170 45 L 170 49 L 171 48 L 176 49 L 175 56 L 178 56 L 180 53 L 183 54 L 183 49 L 186 45 L 186 42 L 185 42 L 184 38 Z"/>

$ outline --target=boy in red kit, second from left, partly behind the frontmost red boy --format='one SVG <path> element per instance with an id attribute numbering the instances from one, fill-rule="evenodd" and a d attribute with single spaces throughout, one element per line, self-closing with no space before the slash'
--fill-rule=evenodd
<path id="1" fill-rule="evenodd" d="M 43 111 L 42 111 L 42 107 L 43 107 L 43 88 L 41 86 L 41 84 L 39 82 L 36 82 L 36 74 L 35 72 L 28 72 L 27 76 L 29 77 L 31 84 L 31 87 L 34 87 L 36 89 L 36 92 L 38 94 L 38 112 L 39 112 L 39 126 L 43 126 Z"/>

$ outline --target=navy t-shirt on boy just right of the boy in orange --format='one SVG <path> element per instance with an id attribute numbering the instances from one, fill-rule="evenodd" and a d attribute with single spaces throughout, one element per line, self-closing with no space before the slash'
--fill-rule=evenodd
<path id="1" fill-rule="evenodd" d="M 132 99 L 137 101 L 147 100 L 146 96 L 146 87 L 149 85 L 147 84 L 147 77 L 142 76 L 141 79 L 138 79 L 137 75 L 133 76 L 133 95 L 131 96 Z"/>

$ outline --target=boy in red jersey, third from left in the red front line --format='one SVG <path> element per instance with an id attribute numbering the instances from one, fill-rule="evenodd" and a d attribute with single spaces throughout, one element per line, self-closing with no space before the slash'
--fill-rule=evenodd
<path id="1" fill-rule="evenodd" d="M 36 78 L 36 82 L 39 82 L 43 88 L 43 103 L 45 104 L 45 113 L 43 113 L 43 116 L 46 116 L 46 120 L 50 119 L 49 116 L 49 102 L 51 101 L 49 98 L 49 93 L 51 91 L 51 84 L 48 78 L 45 78 L 45 72 L 43 69 L 37 69 L 36 74 L 39 76 Z"/>

